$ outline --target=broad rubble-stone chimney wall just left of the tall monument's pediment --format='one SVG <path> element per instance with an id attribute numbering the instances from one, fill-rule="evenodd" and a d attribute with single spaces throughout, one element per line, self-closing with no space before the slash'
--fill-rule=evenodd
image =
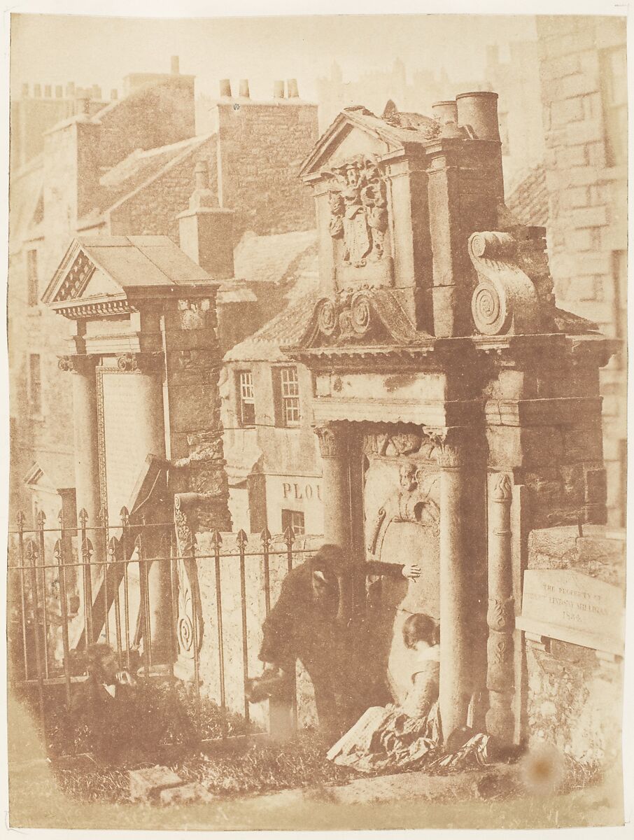
<path id="1" fill-rule="evenodd" d="M 317 105 L 301 99 L 217 103 L 218 197 L 236 211 L 234 234 L 283 234 L 315 227 L 299 179 L 317 141 Z"/>

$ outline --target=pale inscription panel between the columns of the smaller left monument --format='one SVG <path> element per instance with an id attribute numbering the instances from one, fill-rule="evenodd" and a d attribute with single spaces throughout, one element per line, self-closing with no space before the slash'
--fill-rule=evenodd
<path id="1" fill-rule="evenodd" d="M 109 522 L 119 521 L 147 457 L 139 439 L 139 418 L 144 417 L 143 392 L 134 374 L 103 375 L 103 425 L 106 450 L 106 487 Z"/>

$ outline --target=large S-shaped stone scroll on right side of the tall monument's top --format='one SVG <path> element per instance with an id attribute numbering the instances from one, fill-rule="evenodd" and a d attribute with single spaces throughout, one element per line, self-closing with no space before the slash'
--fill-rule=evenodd
<path id="1" fill-rule="evenodd" d="M 479 232 L 469 237 L 469 258 L 478 273 L 471 312 L 483 335 L 538 333 L 542 326 L 537 289 L 517 265 L 516 251 L 511 234 Z"/>

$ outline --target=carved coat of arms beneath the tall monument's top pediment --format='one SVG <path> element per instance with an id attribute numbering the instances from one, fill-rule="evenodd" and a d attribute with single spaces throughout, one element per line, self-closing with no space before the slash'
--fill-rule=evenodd
<path id="1" fill-rule="evenodd" d="M 360 268 L 385 255 L 387 197 L 385 176 L 375 160 L 357 155 L 323 171 L 330 180 L 329 230 L 343 239 L 343 264 Z"/>

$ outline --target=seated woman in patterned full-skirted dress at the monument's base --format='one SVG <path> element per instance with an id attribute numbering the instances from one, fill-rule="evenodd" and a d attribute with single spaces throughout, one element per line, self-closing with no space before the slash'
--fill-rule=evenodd
<path id="1" fill-rule="evenodd" d="M 440 743 L 440 638 L 432 617 L 414 613 L 403 625 L 411 650 L 411 688 L 401 706 L 372 706 L 327 753 L 335 764 L 361 772 L 421 764 Z"/>

